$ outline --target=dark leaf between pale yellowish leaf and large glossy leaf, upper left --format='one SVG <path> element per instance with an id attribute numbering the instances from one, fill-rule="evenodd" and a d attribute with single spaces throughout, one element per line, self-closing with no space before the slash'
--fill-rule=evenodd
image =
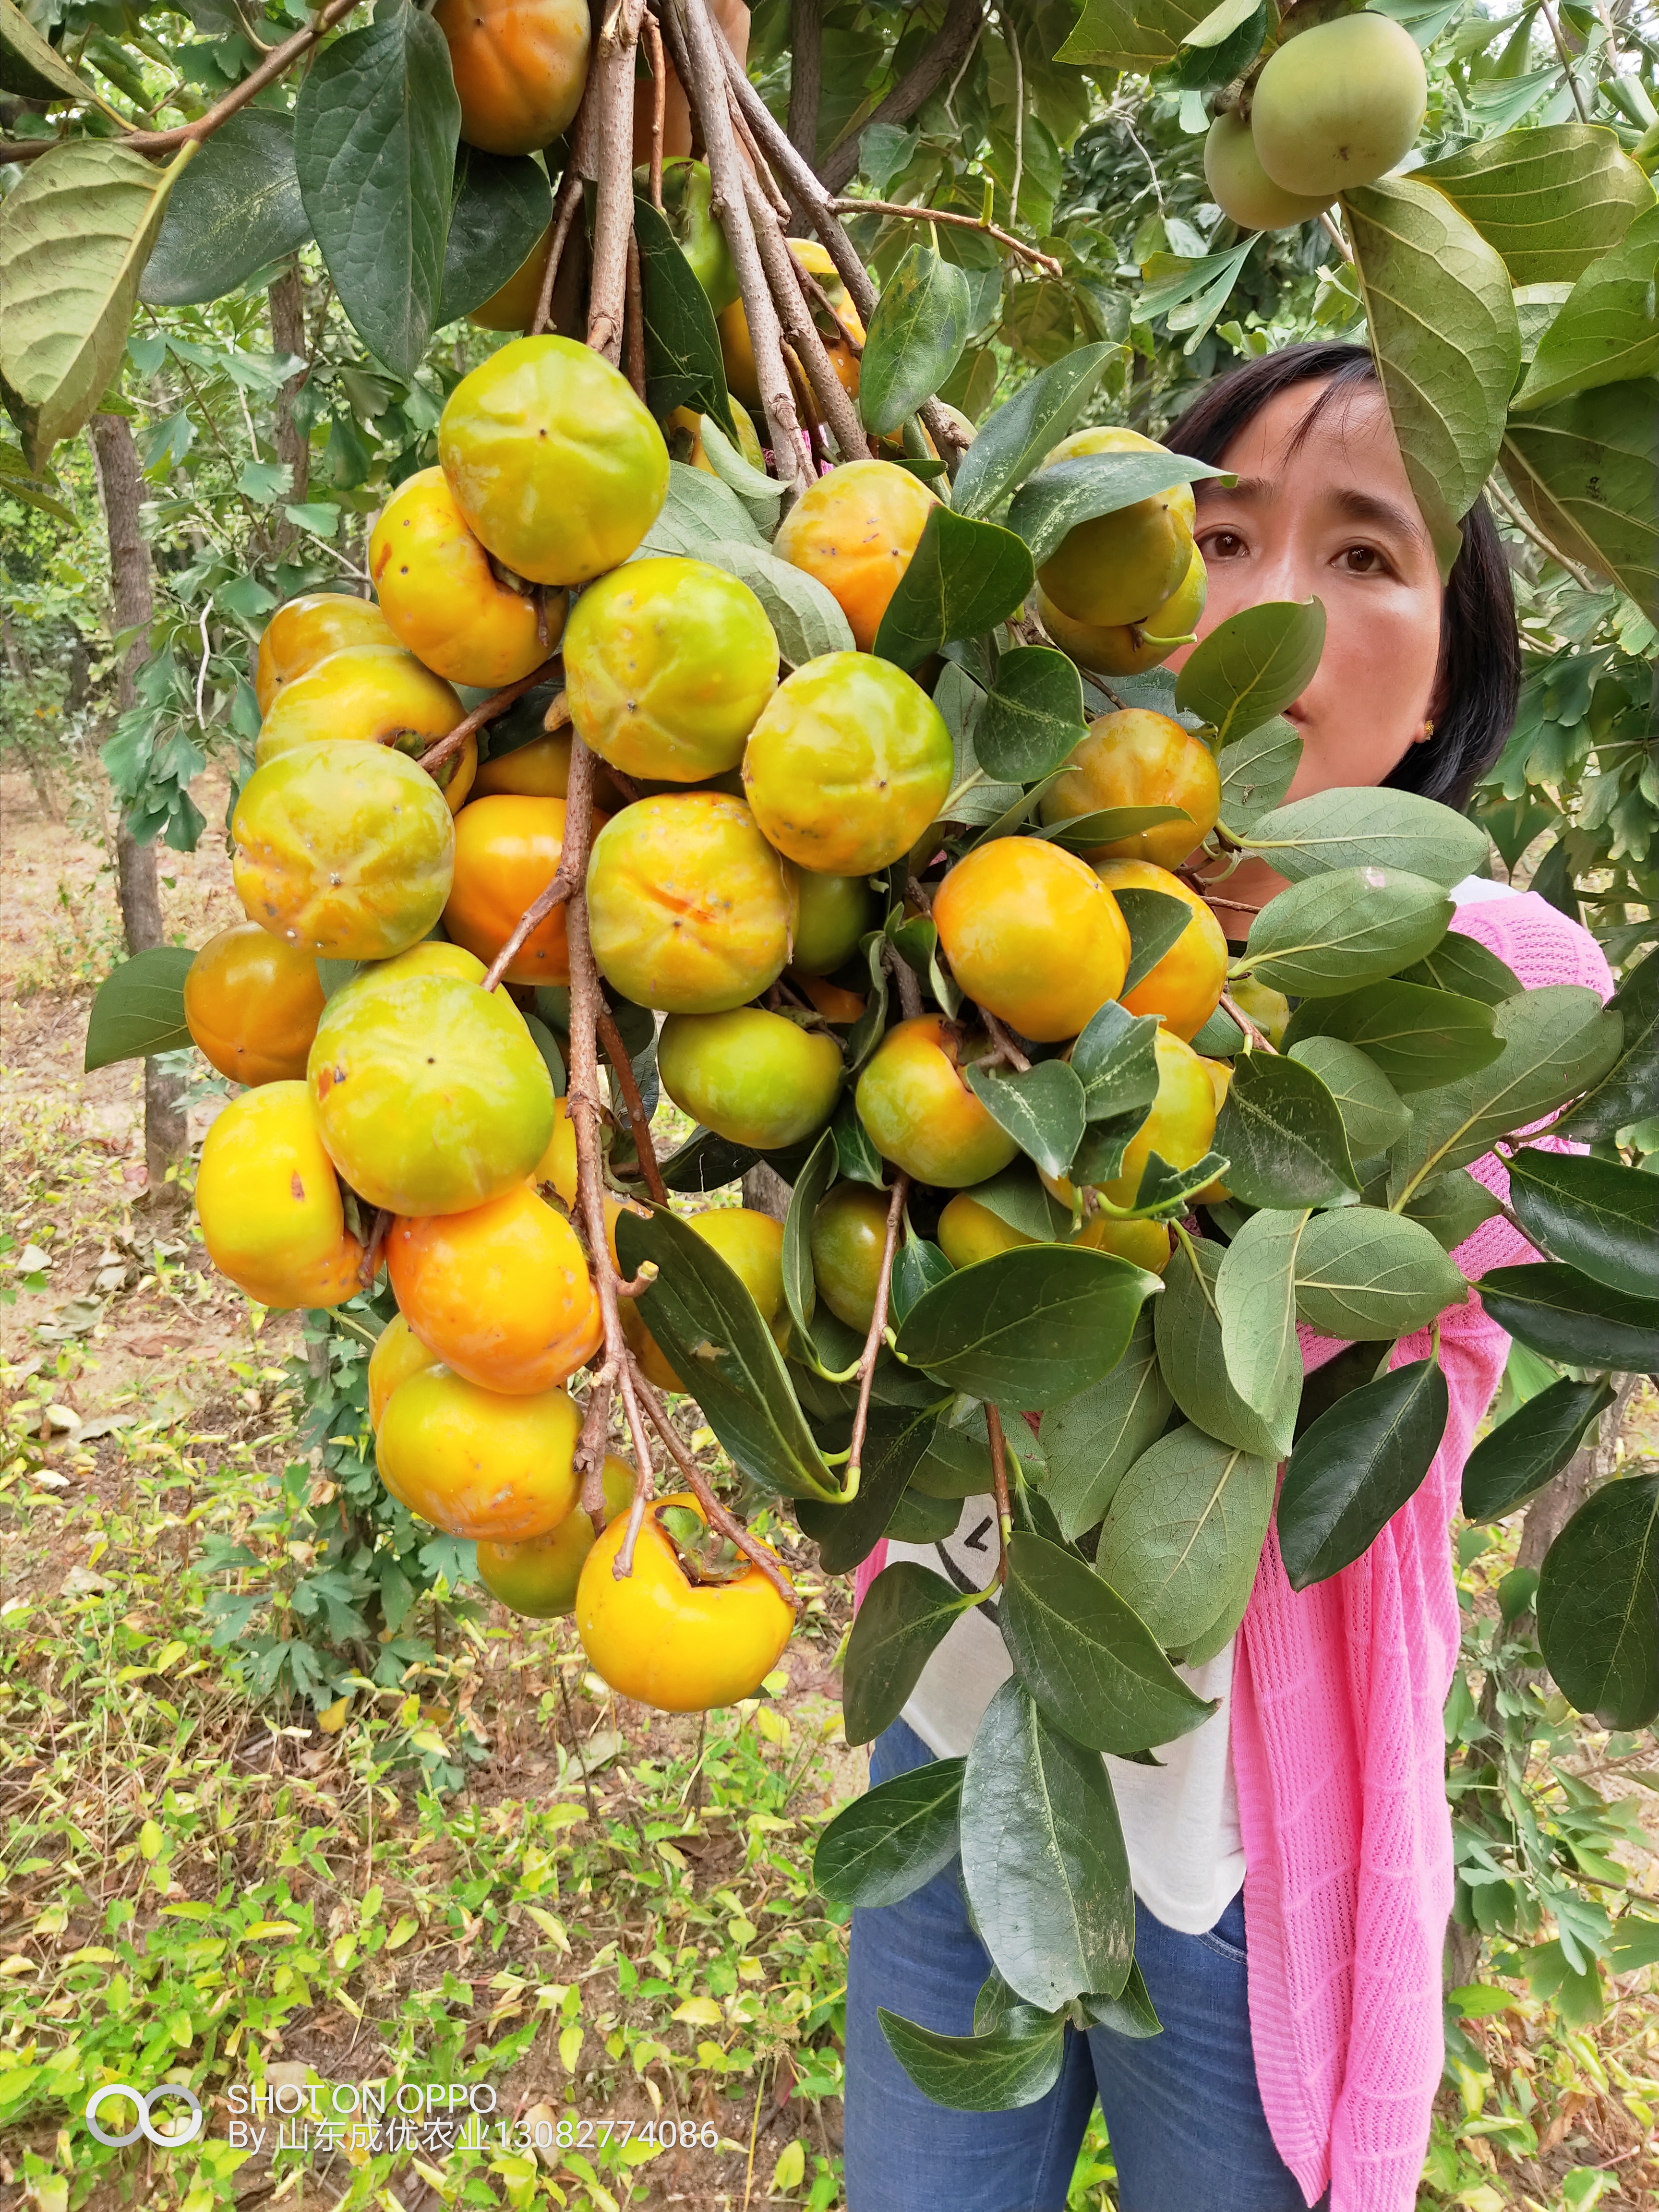
<path id="1" fill-rule="evenodd" d="M 294 168 L 294 117 L 243 108 L 212 133 L 179 179 L 139 299 L 155 307 L 223 299 L 310 234 Z"/>

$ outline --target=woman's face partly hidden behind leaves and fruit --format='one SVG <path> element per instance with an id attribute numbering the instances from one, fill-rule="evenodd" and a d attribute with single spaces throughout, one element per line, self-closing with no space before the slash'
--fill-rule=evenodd
<path id="1" fill-rule="evenodd" d="M 1285 710 L 1303 741 L 1292 799 L 1383 783 L 1422 741 L 1440 664 L 1440 573 L 1383 394 L 1338 394 L 1296 445 L 1321 389 L 1292 385 L 1234 438 L 1230 491 L 1192 487 L 1210 573 L 1199 637 L 1263 599 L 1325 606 L 1323 659 Z"/>

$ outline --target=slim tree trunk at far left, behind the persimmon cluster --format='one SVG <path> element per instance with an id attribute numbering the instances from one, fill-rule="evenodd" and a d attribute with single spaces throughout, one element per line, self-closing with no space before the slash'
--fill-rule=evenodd
<path id="1" fill-rule="evenodd" d="M 155 613 L 150 588 L 150 549 L 144 542 L 139 515 L 142 482 L 133 431 L 126 416 L 93 416 L 93 458 L 97 489 L 104 498 L 108 529 L 108 573 L 115 628 L 137 628 L 139 635 L 122 655 L 115 701 L 122 712 L 137 699 L 137 672 L 148 657 L 146 628 Z M 139 845 L 126 821 L 115 830 L 115 883 L 122 902 L 122 927 L 128 953 L 161 945 L 161 887 L 155 874 L 155 845 Z M 150 1175 L 150 1197 L 159 1203 L 177 1186 L 168 1186 L 168 1168 L 188 1152 L 186 1119 L 179 1108 L 184 1084 L 166 1075 L 155 1060 L 144 1062 L 144 1161 Z"/>

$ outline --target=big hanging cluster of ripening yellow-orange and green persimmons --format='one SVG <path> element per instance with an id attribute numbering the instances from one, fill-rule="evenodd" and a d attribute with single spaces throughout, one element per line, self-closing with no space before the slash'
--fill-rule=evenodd
<path id="1" fill-rule="evenodd" d="M 1144 445 L 1095 429 L 1053 458 L 1124 440 Z M 776 1579 L 752 1559 L 699 1566 L 677 1542 L 695 1524 L 664 1517 L 701 1513 L 688 1493 L 657 1502 L 633 1573 L 613 1575 L 635 1484 L 617 1458 L 604 1533 L 577 1506 L 568 1385 L 602 1349 L 602 1303 L 577 1133 L 526 1020 L 535 987 L 571 978 L 566 909 L 489 973 L 573 832 L 573 734 L 597 774 L 577 894 L 593 960 L 613 1002 L 661 1018 L 661 1088 L 719 1137 L 781 1152 L 830 1124 L 869 989 L 860 945 L 889 900 L 931 907 L 962 1011 L 896 1020 L 856 1075 L 854 1110 L 885 1161 L 949 1194 L 936 1234 L 953 1265 L 1022 1241 L 973 1197 L 1015 1141 L 962 1075 L 1006 1053 L 1009 1033 L 1062 1044 L 1115 998 L 1161 1018 L 1157 1104 L 1108 1206 L 1133 1208 L 1152 1150 L 1172 1166 L 1206 1155 L 1225 1071 L 1188 1040 L 1219 1002 L 1228 951 L 1172 869 L 1217 821 L 1217 765 L 1164 714 L 1108 712 L 1042 801 L 1044 823 L 1124 805 L 1186 818 L 1088 852 L 1000 836 L 949 863 L 951 732 L 929 692 L 872 653 L 936 500 L 918 476 L 858 460 L 787 513 L 774 553 L 827 586 L 854 637 L 790 668 L 748 584 L 641 551 L 668 445 L 595 352 L 560 336 L 502 345 L 451 394 L 438 447 L 440 467 L 411 476 L 374 529 L 378 604 L 294 599 L 259 646 L 263 728 L 232 816 L 248 920 L 206 945 L 186 982 L 197 1044 L 248 1086 L 208 1133 L 201 1225 L 215 1263 L 272 1307 L 338 1305 L 385 1259 L 398 1318 L 369 1363 L 369 1411 L 387 1489 L 473 1537 L 482 1582 L 509 1606 L 575 1610 L 595 1668 L 626 1694 L 723 1703 L 790 1635 Z M 1042 619 L 1086 666 L 1155 664 L 1203 604 L 1190 491 L 1077 526 L 1040 582 Z M 467 719 L 453 686 L 502 690 L 555 653 L 549 728 L 482 763 L 469 732 L 420 765 Z M 1124 887 L 1175 894 L 1192 916 L 1128 993 Z M 319 958 L 356 964 L 327 969 L 330 995 Z M 597 1265 L 615 1267 L 624 1203 L 606 1197 Z M 692 1225 L 787 1338 L 781 1225 L 745 1208 Z M 1168 1261 L 1157 1223 L 1091 1210 L 1077 1234 Z M 821 1296 L 852 1327 L 869 1327 L 885 1237 L 887 1197 L 867 1183 L 832 1190 L 814 1221 Z M 681 1389 L 628 1301 L 624 1316 L 644 1378 Z"/>

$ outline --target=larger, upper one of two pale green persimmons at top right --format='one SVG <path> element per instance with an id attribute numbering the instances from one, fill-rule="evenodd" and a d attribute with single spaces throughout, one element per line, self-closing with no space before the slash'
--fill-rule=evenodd
<path id="1" fill-rule="evenodd" d="M 1250 95 L 1250 135 L 1272 184 L 1334 199 L 1402 161 L 1427 106 L 1418 42 L 1367 11 L 1301 31 L 1267 58 Z"/>

